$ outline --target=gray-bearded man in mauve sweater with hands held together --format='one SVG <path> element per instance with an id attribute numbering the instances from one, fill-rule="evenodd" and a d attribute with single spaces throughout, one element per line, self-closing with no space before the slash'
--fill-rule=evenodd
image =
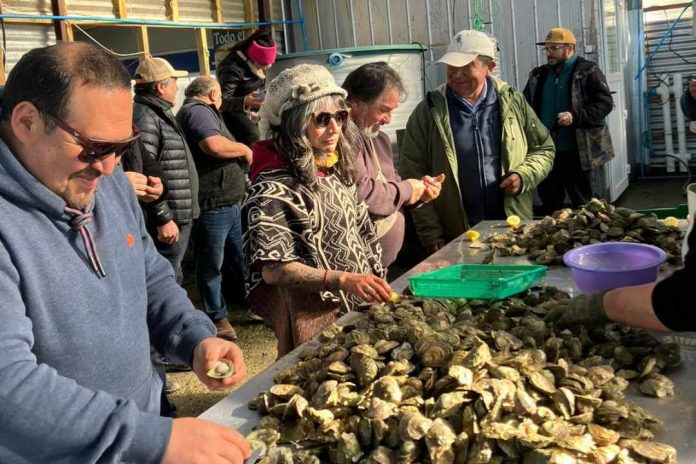
<path id="1" fill-rule="evenodd" d="M 417 207 L 437 198 L 445 176 L 401 179 L 394 169 L 391 141 L 381 132 L 405 94 L 394 69 L 383 61 L 365 64 L 348 74 L 343 88 L 362 136 L 355 166 L 358 200 L 368 206 L 386 268 L 396 259 L 404 240 L 402 207 Z"/>

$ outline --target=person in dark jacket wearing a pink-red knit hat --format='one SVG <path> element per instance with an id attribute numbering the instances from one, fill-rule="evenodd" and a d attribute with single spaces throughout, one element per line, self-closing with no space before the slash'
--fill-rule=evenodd
<path id="1" fill-rule="evenodd" d="M 222 117 L 235 140 L 249 146 L 259 139 L 250 115 L 263 102 L 266 71 L 275 63 L 271 32 L 258 30 L 232 47 L 215 71 L 222 89 Z"/>

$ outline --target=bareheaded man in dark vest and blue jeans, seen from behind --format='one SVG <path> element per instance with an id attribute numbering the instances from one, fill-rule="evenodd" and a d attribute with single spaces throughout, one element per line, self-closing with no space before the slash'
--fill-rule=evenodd
<path id="1" fill-rule="evenodd" d="M 203 309 L 215 323 L 218 336 L 234 340 L 222 294 L 222 263 L 228 251 L 239 282 L 244 279 L 242 221 L 244 171 L 251 149 L 235 142 L 220 113 L 222 91 L 212 77 L 202 76 L 186 88 L 186 100 L 176 115 L 193 153 L 199 174 L 201 215 L 196 225 L 196 282 Z"/>

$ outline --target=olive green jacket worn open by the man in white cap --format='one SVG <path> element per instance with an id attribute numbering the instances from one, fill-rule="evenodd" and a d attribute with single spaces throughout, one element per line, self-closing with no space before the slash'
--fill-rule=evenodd
<path id="1" fill-rule="evenodd" d="M 553 140 L 520 91 L 499 79 L 493 78 L 493 82 L 502 118 L 501 175 L 515 172 L 522 178 L 520 194 L 505 195 L 505 212 L 508 216 L 531 219 L 533 190 L 553 166 Z M 469 228 L 459 190 L 457 153 L 445 89 L 443 84 L 428 92 L 416 106 L 406 124 L 399 159 L 399 173 L 404 179 L 440 173 L 447 176 L 434 202 L 411 210 L 425 247 L 449 242 Z"/>

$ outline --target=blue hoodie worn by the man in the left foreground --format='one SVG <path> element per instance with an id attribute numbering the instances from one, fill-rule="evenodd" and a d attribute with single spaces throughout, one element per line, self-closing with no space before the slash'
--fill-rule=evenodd
<path id="1" fill-rule="evenodd" d="M 65 202 L 0 141 L 0 462 L 160 462 L 171 419 L 150 343 L 174 362 L 214 336 L 148 236 L 118 168 L 102 178 L 89 264 Z"/>

